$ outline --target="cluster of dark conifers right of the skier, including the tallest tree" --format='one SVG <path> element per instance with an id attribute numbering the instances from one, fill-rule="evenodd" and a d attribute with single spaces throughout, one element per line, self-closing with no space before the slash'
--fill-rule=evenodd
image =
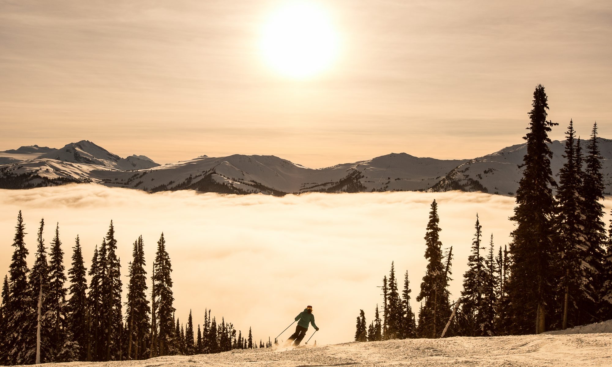
<path id="1" fill-rule="evenodd" d="M 557 124 L 547 120 L 548 100 L 542 85 L 535 88 L 532 106 L 524 137 L 528 144 L 523 178 L 510 218 L 516 223 L 512 242 L 495 248 L 491 234 L 484 247 L 476 215 L 463 291 L 451 304 L 447 288 L 452 247 L 446 255 L 442 253 L 433 201 L 425 235 L 427 271 L 416 298 L 419 322 L 415 325 L 409 307 L 408 273 L 403 297 L 398 297 L 392 264 L 389 280 L 383 280 L 384 321 L 381 324 L 377 306 L 375 321 L 365 330 L 365 313 L 360 310 L 356 341 L 438 338 L 445 331 L 446 336 L 522 335 L 612 319 L 612 221 L 606 231 L 597 123 L 583 153 L 570 120 L 565 163 L 557 183 L 547 145 L 551 143 L 548 133 Z"/>

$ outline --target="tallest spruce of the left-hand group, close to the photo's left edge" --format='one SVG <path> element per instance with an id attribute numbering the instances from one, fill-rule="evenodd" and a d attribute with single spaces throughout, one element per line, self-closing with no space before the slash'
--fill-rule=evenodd
<path id="1" fill-rule="evenodd" d="M 6 306 L 4 306 L 4 317 L 7 333 L 2 340 L 2 360 L 6 365 L 23 365 L 31 363 L 26 360 L 28 344 L 26 335 L 18 332 L 23 330 L 30 317 L 29 310 L 29 287 L 28 287 L 28 249 L 24 242 L 25 226 L 21 210 L 17 215 L 17 231 L 13 239 L 13 256 L 9 265 L 9 295 Z M 4 296 L 2 297 L 4 299 Z"/>

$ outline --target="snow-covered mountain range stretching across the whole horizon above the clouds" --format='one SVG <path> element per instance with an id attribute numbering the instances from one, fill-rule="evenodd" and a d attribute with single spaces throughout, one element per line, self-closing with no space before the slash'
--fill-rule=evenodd
<path id="1" fill-rule="evenodd" d="M 587 142 L 583 141 L 586 147 Z M 564 143 L 553 141 L 551 167 L 558 176 Z M 612 140 L 599 138 L 606 191 L 612 188 Z M 483 191 L 514 195 L 526 144 L 470 160 L 418 158 L 392 153 L 327 168 L 306 168 L 274 155 L 201 157 L 159 165 L 144 155 L 121 158 L 91 141 L 60 149 L 23 146 L 0 152 L 0 188 L 94 182 L 139 190 L 198 190 L 285 195 L 308 191 Z"/>

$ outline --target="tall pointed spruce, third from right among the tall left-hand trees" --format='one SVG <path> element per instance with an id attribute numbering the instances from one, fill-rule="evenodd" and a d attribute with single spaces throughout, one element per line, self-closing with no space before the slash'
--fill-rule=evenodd
<path id="1" fill-rule="evenodd" d="M 117 258 L 117 240 L 114 238 L 114 226 L 111 220 L 106 232 L 106 256 L 102 278 L 102 312 L 104 325 L 105 357 L 104 360 L 119 360 L 121 350 L 121 333 L 123 317 L 121 315 L 121 263 Z"/>

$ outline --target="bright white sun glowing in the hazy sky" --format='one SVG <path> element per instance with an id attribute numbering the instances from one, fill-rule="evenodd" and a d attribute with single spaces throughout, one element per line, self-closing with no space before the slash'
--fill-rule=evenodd
<path id="1" fill-rule="evenodd" d="M 291 1 L 272 12 L 263 27 L 261 53 L 276 72 L 304 79 L 323 72 L 338 56 L 338 32 L 326 9 Z"/>

